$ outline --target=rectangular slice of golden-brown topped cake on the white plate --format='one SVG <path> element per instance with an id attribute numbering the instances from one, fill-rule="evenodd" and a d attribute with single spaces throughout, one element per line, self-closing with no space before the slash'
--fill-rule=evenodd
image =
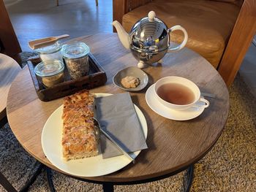
<path id="1" fill-rule="evenodd" d="M 94 94 L 87 90 L 64 98 L 62 152 L 65 160 L 98 154 L 93 107 Z"/>

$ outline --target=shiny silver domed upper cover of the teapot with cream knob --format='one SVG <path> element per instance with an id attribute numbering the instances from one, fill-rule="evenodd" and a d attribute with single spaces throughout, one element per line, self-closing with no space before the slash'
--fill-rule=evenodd
<path id="1" fill-rule="evenodd" d="M 130 47 L 140 53 L 150 52 L 157 54 L 169 47 L 167 26 L 156 18 L 154 11 L 148 17 L 142 18 L 132 27 L 130 32 Z"/>

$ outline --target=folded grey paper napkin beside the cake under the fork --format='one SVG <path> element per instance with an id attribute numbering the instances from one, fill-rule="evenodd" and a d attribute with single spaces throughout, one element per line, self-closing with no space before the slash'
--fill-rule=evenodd
<path id="1" fill-rule="evenodd" d="M 148 148 L 129 93 L 118 93 L 95 99 L 100 126 L 127 152 Z M 121 155 L 105 136 L 100 138 L 103 158 Z"/>

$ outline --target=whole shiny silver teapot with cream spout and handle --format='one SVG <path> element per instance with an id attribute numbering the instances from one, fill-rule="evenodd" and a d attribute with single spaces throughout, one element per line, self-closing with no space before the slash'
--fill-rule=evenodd
<path id="1" fill-rule="evenodd" d="M 139 68 L 145 67 L 146 64 L 160 63 L 167 52 L 181 50 L 187 44 L 187 31 L 181 26 L 167 28 L 162 20 L 156 18 L 154 11 L 135 23 L 130 34 L 127 34 L 117 20 L 113 21 L 113 26 L 121 43 L 128 50 L 130 49 L 132 55 L 139 61 Z M 183 31 L 184 40 L 180 45 L 170 48 L 169 33 L 176 30 Z"/>

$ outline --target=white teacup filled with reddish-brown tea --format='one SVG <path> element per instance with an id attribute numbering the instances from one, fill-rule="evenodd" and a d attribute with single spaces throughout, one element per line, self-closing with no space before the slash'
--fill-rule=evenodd
<path id="1" fill-rule="evenodd" d="M 183 77 L 161 78 L 156 82 L 154 92 L 158 101 L 173 110 L 187 110 L 190 107 L 206 108 L 210 104 L 203 99 L 197 85 Z"/>

